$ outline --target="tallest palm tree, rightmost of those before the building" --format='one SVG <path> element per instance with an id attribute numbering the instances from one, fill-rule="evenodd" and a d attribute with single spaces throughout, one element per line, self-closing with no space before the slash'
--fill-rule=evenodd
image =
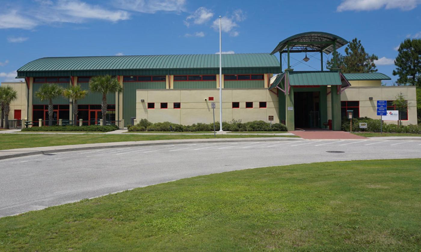
<path id="1" fill-rule="evenodd" d="M 123 92 L 123 87 L 120 86 L 117 77 L 105 75 L 92 77 L 91 80 L 89 80 L 89 89 L 91 89 L 92 92 L 102 94 L 101 112 L 102 121 L 105 124 L 107 115 L 107 95 L 109 93 Z"/>

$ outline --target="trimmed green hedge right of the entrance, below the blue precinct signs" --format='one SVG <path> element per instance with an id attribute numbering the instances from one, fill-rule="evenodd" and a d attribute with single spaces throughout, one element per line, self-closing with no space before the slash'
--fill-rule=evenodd
<path id="1" fill-rule="evenodd" d="M 360 129 L 360 123 L 367 123 L 367 129 Z M 342 120 L 342 130 L 349 131 L 350 127 L 349 120 Z M 380 132 L 380 120 L 373 119 L 368 117 L 360 117 L 352 119 L 352 131 L 355 132 Z M 389 133 L 414 133 L 421 134 L 421 125 L 407 125 L 407 126 L 397 126 L 396 124 L 387 124 L 383 123 L 383 132 Z"/>

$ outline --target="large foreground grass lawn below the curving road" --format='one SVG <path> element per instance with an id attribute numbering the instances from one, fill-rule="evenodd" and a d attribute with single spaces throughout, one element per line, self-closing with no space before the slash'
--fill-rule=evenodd
<path id="1" fill-rule="evenodd" d="M 2 251 L 420 251 L 421 159 L 182 179 L 0 218 Z"/>

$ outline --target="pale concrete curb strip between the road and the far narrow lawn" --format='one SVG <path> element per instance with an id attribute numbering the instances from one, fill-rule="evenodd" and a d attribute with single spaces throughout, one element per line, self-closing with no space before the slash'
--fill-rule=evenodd
<path id="1" fill-rule="evenodd" d="M 41 155 L 41 154 L 50 154 L 50 153 L 58 153 L 58 152 L 69 152 L 69 151 L 78 151 L 78 150 L 99 150 L 99 149 L 112 149 L 112 148 L 123 148 L 123 147 L 137 147 L 137 146 L 154 146 L 154 145 L 169 145 L 169 144 L 196 144 L 196 143 L 213 143 L 213 142 L 279 142 L 279 141 L 302 141 L 305 139 L 301 139 L 298 137 L 280 137 L 280 138 L 230 138 L 230 139 L 203 139 L 200 141 L 200 139 L 194 139 L 194 141 L 178 141 L 178 142 L 171 142 L 171 140 L 168 140 L 167 142 L 152 142 L 152 143 L 133 143 L 133 144 L 118 144 L 119 142 L 111 142 L 109 144 L 113 145 L 99 145 L 99 146 L 87 146 L 87 147 L 73 147 L 73 148 L 65 148 L 65 149 L 56 149 L 56 150 L 35 150 L 35 151 L 28 151 L 23 153 L 16 153 L 16 154 L 10 154 L 10 155 L 3 155 L 0 156 L 0 160 L 5 160 L 13 157 L 25 157 L 25 156 L 32 156 L 32 155 Z M 99 143 L 104 144 L 104 143 Z M 80 145 L 80 144 L 75 144 Z M 63 145 L 59 146 L 48 146 L 45 148 L 51 148 L 51 147 L 63 147 Z M 64 145 L 66 146 L 66 145 Z M 72 146 L 72 145 L 67 145 Z M 36 148 L 44 148 L 44 147 L 36 147 Z M 13 149 L 16 151 L 19 151 L 17 149 Z M 8 151 L 8 150 L 4 150 Z M 25 150 L 22 150 L 25 151 Z M 1 151 L 0 151 L 1 152 Z"/>

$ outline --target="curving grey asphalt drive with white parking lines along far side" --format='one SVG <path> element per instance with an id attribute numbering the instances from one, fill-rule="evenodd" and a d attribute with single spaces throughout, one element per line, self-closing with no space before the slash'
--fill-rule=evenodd
<path id="1" fill-rule="evenodd" d="M 0 216 L 210 173 L 297 163 L 394 158 L 421 158 L 421 141 L 216 142 L 16 157 L 0 160 Z"/>

